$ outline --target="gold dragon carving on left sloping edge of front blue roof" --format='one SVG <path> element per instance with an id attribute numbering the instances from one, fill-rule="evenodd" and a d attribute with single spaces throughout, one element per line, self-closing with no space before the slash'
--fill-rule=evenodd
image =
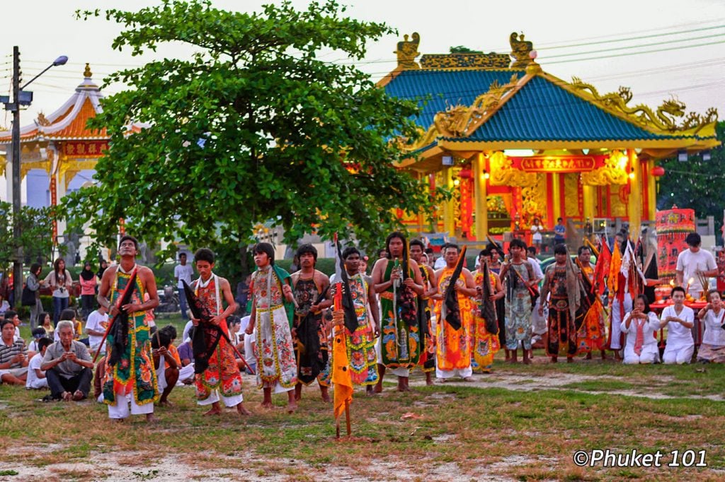
<path id="1" fill-rule="evenodd" d="M 515 88 L 517 77 L 516 74 L 512 75 L 511 80 L 504 85 L 500 85 L 498 80 L 494 80 L 489 86 L 488 92 L 476 97 L 470 107 L 458 105 L 449 107 L 444 112 L 439 112 L 433 119 L 431 129 L 436 130 L 444 137 L 457 138 L 471 135 L 484 123 L 486 114 L 499 105 L 501 98 L 509 90 Z M 426 132 L 424 138 L 428 138 L 428 132 Z"/>

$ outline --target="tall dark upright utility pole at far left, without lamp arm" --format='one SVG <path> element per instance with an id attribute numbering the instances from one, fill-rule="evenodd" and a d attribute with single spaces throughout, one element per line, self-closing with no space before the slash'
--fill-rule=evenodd
<path id="1" fill-rule="evenodd" d="M 14 303 L 22 297 L 22 228 L 20 227 L 20 49 L 12 48 L 12 238 L 17 243 L 12 263 Z"/>

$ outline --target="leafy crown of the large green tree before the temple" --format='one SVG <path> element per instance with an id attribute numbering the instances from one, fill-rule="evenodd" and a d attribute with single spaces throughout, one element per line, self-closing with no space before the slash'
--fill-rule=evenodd
<path id="1" fill-rule="evenodd" d="M 333 0 L 261 13 L 192 0 L 105 12 L 126 28 L 113 48 L 138 55 L 181 42 L 196 53 L 107 78 L 129 88 L 89 122 L 107 127 L 111 147 L 96 166 L 101 183 L 67 196 L 67 214 L 91 221 L 100 242 L 124 218 L 144 240 L 243 250 L 266 220 L 287 241 L 316 229 L 373 245 L 399 227 L 394 208 L 431 206 L 426 186 L 394 166 L 406 154 L 390 141 L 415 138 L 417 107 L 386 96 L 354 65 L 367 41 L 394 30 L 344 11 Z M 352 62 L 323 62 L 323 50 Z M 130 120 L 149 127 L 128 135 Z"/>

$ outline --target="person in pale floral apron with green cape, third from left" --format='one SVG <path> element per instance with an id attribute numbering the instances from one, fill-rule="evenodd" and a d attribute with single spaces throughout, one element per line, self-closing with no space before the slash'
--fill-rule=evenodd
<path id="1" fill-rule="evenodd" d="M 294 296 L 287 271 L 275 266 L 274 248 L 268 242 L 254 246 L 254 264 L 249 292 L 252 293 L 252 314 L 245 333 L 256 327 L 257 386 L 264 390 L 262 407 L 272 408 L 272 389 L 287 392 L 287 410 L 297 410 L 294 386 L 297 385 L 297 363 L 294 360 L 291 320 Z"/>

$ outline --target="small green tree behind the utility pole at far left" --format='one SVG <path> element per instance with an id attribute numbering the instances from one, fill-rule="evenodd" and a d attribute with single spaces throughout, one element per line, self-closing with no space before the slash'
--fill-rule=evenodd
<path id="1" fill-rule="evenodd" d="M 13 236 L 16 222 L 11 203 L 0 201 L 0 271 L 8 269 L 18 247 L 22 246 L 25 261 L 33 263 L 38 257 L 50 255 L 53 242 L 53 221 L 50 208 L 20 208 L 20 239 Z"/>

